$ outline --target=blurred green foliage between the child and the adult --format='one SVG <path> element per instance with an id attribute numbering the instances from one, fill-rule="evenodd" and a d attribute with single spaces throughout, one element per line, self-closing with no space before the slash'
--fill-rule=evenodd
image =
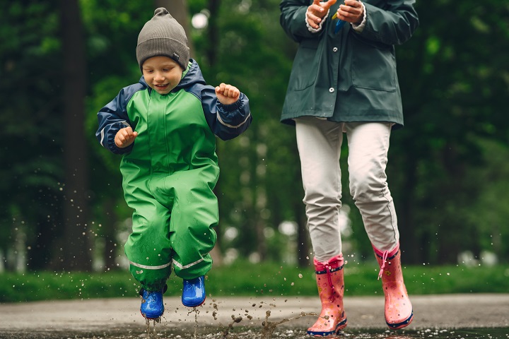
<path id="1" fill-rule="evenodd" d="M 279 260 L 286 236 L 277 227 L 284 220 L 303 220 L 302 202 L 293 203 L 294 196 L 302 199 L 294 131 L 279 123 L 291 69 L 284 53 L 295 52 L 295 46 L 279 26 L 279 1 L 206 4 L 190 1 L 192 13 L 209 16 L 206 30 L 193 36 L 204 76 L 209 83 L 232 83 L 247 93 L 254 118 L 245 134 L 218 143 L 221 227 L 237 230 L 224 247 L 241 256 Z M 293 192 L 298 193 L 286 196 Z"/>

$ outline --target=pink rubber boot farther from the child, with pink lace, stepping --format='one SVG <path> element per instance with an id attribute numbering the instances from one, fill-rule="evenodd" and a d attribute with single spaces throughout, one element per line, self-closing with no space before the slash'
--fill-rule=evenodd
<path id="1" fill-rule="evenodd" d="M 414 311 L 403 281 L 399 244 L 391 251 L 382 252 L 375 246 L 373 249 L 380 266 L 378 279 L 382 277 L 385 295 L 385 322 L 393 330 L 404 328 L 414 319 Z"/>

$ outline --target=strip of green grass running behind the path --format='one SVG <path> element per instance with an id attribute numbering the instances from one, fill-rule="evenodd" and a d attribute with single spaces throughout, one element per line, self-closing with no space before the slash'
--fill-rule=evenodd
<path id="1" fill-rule="evenodd" d="M 408 266 L 406 289 L 412 295 L 444 293 L 507 293 L 509 266 Z M 345 294 L 382 293 L 376 263 L 345 266 Z M 179 296 L 182 280 L 168 280 L 167 296 Z M 127 270 L 106 273 L 2 273 L 0 302 L 51 299 L 136 297 L 139 284 Z M 218 296 L 308 296 L 316 295 L 311 266 L 298 268 L 278 263 L 235 263 L 214 267 L 207 275 L 207 294 Z"/>

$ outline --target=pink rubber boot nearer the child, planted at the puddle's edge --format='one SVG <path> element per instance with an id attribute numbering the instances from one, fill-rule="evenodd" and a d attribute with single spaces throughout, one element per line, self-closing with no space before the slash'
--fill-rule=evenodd
<path id="1" fill-rule="evenodd" d="M 343 256 L 334 256 L 321 263 L 315 263 L 318 295 L 322 302 L 322 312 L 316 323 L 308 328 L 308 334 L 315 337 L 334 335 L 346 327 L 346 316 L 343 308 L 344 270 Z M 325 318 L 328 319 L 325 319 Z"/>

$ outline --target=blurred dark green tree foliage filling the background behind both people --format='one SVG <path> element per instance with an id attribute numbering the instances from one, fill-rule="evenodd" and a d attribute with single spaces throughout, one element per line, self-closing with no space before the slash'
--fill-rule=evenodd
<path id="1" fill-rule="evenodd" d="M 90 184 L 83 190 L 90 252 L 101 268 L 115 268 L 123 256 L 131 211 L 122 198 L 119 157 L 95 140 L 95 114 L 139 80 L 136 39 L 155 2 L 79 1 L 88 69 L 83 128 Z M 250 97 L 254 117 L 244 135 L 218 141 L 217 247 L 262 261 L 290 254 L 292 264 L 300 258 L 303 265 L 312 256 L 298 151 L 293 127 L 279 123 L 296 44 L 279 26 L 279 0 L 183 4 L 189 21 L 197 13 L 209 16 L 206 28 L 189 32 L 206 81 L 238 86 Z M 507 263 L 509 7 L 496 0 L 426 0 L 416 8 L 421 26 L 397 47 L 406 126 L 392 134 L 387 167 L 402 249 L 411 263 L 455 263 L 467 250 L 476 258 L 490 251 Z M 58 270 L 69 241 L 62 237 L 69 226 L 62 217 L 63 121 L 70 114 L 62 111 L 62 15 L 56 0 L 0 2 L 0 256 L 6 270 Z M 349 196 L 347 155 L 345 149 L 343 200 L 351 207 L 352 232 L 344 240 L 358 258 L 370 258 Z M 298 235 L 281 234 L 283 221 L 296 222 Z M 236 237 L 225 237 L 227 230 Z"/>

